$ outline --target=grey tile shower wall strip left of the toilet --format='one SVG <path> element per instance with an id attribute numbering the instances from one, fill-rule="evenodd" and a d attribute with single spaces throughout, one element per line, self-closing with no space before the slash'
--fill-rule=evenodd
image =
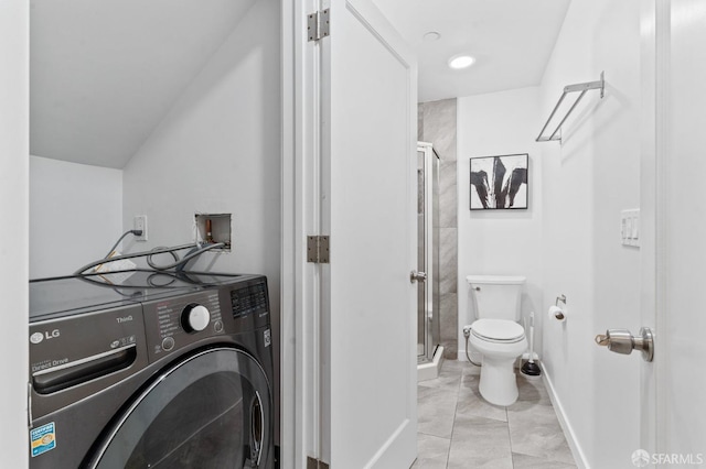
<path id="1" fill-rule="evenodd" d="M 456 99 L 421 102 L 418 107 L 418 139 L 434 145 L 439 167 L 439 326 L 445 358 L 456 360 L 458 336 L 458 221 L 456 182 Z"/>

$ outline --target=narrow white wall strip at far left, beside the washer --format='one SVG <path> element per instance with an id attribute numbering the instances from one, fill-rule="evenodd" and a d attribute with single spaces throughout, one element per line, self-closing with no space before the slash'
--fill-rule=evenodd
<path id="1" fill-rule="evenodd" d="M 2 294 L 2 466 L 28 465 L 29 8 L 0 3 L 0 293 Z"/>

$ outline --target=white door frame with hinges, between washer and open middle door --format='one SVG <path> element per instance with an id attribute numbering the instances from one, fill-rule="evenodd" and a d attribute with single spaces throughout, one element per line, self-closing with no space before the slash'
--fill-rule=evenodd
<path id="1" fill-rule="evenodd" d="M 281 4 L 281 348 L 280 467 L 304 468 L 321 454 L 319 423 L 320 266 L 307 263 L 306 239 L 319 231 L 320 148 L 315 123 L 320 97 L 318 45 L 307 41 L 309 12 L 319 0 Z M 312 64 L 313 70 L 306 64 Z M 311 103 L 311 105 L 307 105 Z M 307 105 L 307 106 L 306 106 Z"/>

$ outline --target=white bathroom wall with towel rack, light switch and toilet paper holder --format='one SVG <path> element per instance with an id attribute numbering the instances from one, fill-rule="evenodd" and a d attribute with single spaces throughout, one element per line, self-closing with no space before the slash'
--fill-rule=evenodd
<path id="1" fill-rule="evenodd" d="M 542 81 L 537 130 L 564 86 L 606 73 L 544 143 L 545 303 L 567 297 L 567 321 L 544 330 L 543 364 L 579 463 L 622 468 L 639 448 L 641 358 L 610 353 L 593 336 L 640 324 L 640 251 L 620 243 L 620 210 L 640 205 L 639 0 L 574 0 Z M 545 305 L 546 306 L 546 305 Z"/>

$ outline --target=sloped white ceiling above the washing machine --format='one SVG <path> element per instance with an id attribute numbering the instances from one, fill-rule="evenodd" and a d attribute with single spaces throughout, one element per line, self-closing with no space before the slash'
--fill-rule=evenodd
<path id="1" fill-rule="evenodd" d="M 30 152 L 124 167 L 255 0 L 32 0 Z"/>

